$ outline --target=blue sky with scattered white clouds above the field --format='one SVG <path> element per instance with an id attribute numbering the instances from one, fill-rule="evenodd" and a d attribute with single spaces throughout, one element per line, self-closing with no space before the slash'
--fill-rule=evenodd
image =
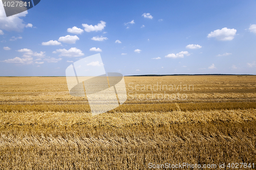
<path id="1" fill-rule="evenodd" d="M 255 9 L 251 0 L 41 0 L 6 17 L 0 2 L 0 76 L 65 76 L 97 53 L 123 75 L 255 75 Z"/>

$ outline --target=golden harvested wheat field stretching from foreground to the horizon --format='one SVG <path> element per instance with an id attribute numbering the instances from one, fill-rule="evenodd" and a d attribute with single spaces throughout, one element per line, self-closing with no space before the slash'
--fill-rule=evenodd
<path id="1" fill-rule="evenodd" d="M 0 77 L 0 169 L 256 168 L 256 76 L 124 80 L 92 116 L 65 77 Z"/>

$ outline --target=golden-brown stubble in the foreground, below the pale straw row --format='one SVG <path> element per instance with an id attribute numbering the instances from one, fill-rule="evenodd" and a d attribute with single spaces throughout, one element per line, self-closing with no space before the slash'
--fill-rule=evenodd
<path id="1" fill-rule="evenodd" d="M 150 162 L 255 162 L 255 125 L 8 127 L 0 136 L 0 168 L 148 169 Z"/>

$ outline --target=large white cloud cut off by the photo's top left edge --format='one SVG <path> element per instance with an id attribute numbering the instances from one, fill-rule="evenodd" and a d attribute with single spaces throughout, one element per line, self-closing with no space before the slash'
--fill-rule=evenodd
<path id="1" fill-rule="evenodd" d="M 6 30 L 6 31 L 16 31 L 16 32 L 22 32 L 25 28 L 25 24 L 23 19 L 20 19 L 19 17 L 25 17 L 28 14 L 28 11 L 24 11 L 22 13 L 12 15 L 9 17 L 6 17 L 4 6 L 0 5 L 0 29 Z"/>

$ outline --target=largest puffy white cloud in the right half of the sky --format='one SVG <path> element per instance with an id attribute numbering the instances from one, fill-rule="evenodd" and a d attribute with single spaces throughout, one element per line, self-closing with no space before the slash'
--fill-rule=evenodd
<path id="1" fill-rule="evenodd" d="M 221 30 L 218 29 L 211 32 L 210 34 L 208 34 L 207 38 L 215 37 L 217 40 L 220 40 L 220 41 L 230 41 L 234 38 L 236 33 L 237 33 L 237 30 L 228 29 L 225 27 Z"/>

